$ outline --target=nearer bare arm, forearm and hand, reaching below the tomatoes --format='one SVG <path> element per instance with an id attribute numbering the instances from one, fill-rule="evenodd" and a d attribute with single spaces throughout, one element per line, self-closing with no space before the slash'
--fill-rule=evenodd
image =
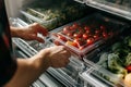
<path id="1" fill-rule="evenodd" d="M 58 46 L 44 49 L 31 59 L 17 59 L 17 70 L 4 87 L 28 87 L 49 66 L 66 66 L 70 55 L 64 47 Z"/>

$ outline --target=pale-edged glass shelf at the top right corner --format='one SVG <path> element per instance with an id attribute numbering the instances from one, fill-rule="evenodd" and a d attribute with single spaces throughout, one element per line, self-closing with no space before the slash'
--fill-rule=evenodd
<path id="1" fill-rule="evenodd" d="M 75 0 L 131 21 L 131 0 Z"/>

